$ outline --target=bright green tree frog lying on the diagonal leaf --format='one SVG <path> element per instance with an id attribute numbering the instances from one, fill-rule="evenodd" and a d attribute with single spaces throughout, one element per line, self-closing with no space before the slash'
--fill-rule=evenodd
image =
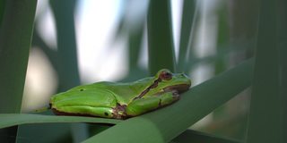
<path id="1" fill-rule="evenodd" d="M 51 97 L 50 106 L 59 115 L 126 119 L 174 103 L 190 85 L 185 74 L 163 69 L 134 82 L 101 81 L 71 88 Z"/>

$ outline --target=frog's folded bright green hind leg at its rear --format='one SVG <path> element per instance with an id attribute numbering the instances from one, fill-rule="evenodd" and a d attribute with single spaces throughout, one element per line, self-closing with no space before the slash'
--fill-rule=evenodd
<path id="1" fill-rule="evenodd" d="M 51 109 L 59 115 L 122 118 L 124 112 L 117 107 L 117 99 L 109 89 L 82 89 L 53 97 L 50 101 Z"/>

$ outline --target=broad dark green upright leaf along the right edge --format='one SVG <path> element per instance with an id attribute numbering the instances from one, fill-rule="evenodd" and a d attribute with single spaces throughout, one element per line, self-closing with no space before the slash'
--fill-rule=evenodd
<path id="1" fill-rule="evenodd" d="M 261 1 L 247 142 L 280 142 L 278 1 Z M 284 95 L 286 96 L 286 95 Z"/>

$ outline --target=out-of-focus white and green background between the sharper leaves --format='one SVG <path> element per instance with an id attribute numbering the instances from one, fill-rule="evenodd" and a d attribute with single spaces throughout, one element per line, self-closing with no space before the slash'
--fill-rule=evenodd
<path id="1" fill-rule="evenodd" d="M 170 2 L 176 71 L 191 77 L 193 86 L 253 55 L 257 2 Z M 48 105 L 53 94 L 79 84 L 150 76 L 148 0 L 71 1 L 63 4 L 64 10 L 55 3 L 61 2 L 37 5 L 22 113 Z M 186 53 L 180 52 L 181 46 L 187 47 Z M 64 62 L 57 63 L 58 59 Z M 243 139 L 248 102 L 247 89 L 191 128 Z"/>

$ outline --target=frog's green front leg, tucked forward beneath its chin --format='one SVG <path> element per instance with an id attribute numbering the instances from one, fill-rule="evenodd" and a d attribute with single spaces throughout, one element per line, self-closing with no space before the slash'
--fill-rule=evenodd
<path id="1" fill-rule="evenodd" d="M 164 105 L 170 105 L 179 98 L 177 91 L 165 92 L 161 95 L 152 97 L 136 98 L 126 106 L 127 116 L 136 116 L 160 108 Z"/>

